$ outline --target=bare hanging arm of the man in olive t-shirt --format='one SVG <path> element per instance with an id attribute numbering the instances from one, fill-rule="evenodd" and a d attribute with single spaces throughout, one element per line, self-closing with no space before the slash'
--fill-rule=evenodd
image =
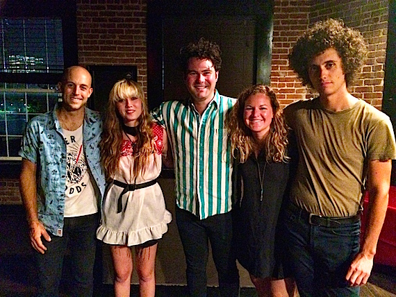
<path id="1" fill-rule="evenodd" d="M 381 233 L 389 200 L 391 160 L 372 160 L 368 172 L 368 219 L 361 251 L 349 267 L 347 280 L 350 285 L 364 285 L 370 276 L 377 242 Z"/>

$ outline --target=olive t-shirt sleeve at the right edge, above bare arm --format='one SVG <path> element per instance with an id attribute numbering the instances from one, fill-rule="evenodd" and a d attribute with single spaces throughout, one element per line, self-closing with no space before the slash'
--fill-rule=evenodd
<path id="1" fill-rule="evenodd" d="M 380 119 L 368 133 L 368 160 L 395 160 L 396 144 L 390 119 Z"/>

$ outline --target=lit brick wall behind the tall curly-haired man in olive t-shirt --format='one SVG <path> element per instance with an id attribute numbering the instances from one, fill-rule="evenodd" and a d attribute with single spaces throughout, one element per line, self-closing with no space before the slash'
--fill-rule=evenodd
<path id="1" fill-rule="evenodd" d="M 276 0 L 271 85 L 282 105 L 315 96 L 288 68 L 288 53 L 309 26 L 320 19 L 341 18 L 357 28 L 368 42 L 369 53 L 361 77 L 350 92 L 381 109 L 388 28 L 388 1 L 383 0 Z"/>

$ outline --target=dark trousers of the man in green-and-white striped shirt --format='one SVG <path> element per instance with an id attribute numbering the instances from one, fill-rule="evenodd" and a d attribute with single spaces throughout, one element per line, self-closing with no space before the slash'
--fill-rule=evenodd
<path id="1" fill-rule="evenodd" d="M 222 297 L 239 296 L 239 274 L 231 248 L 231 212 L 199 220 L 176 206 L 176 222 L 187 262 L 187 286 L 190 296 L 206 296 L 206 264 L 211 241 L 213 261 Z"/>

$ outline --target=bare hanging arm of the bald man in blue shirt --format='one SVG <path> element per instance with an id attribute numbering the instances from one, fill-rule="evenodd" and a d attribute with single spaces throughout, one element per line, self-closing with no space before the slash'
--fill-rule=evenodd
<path id="1" fill-rule="evenodd" d="M 22 159 L 21 175 L 19 177 L 19 189 L 22 195 L 22 201 L 26 210 L 26 219 L 29 226 L 29 236 L 31 245 L 39 253 L 44 254 L 47 248 L 42 244 L 41 237 L 51 241 L 47 230 L 38 219 L 37 211 L 37 186 L 36 186 L 36 164 Z"/>

